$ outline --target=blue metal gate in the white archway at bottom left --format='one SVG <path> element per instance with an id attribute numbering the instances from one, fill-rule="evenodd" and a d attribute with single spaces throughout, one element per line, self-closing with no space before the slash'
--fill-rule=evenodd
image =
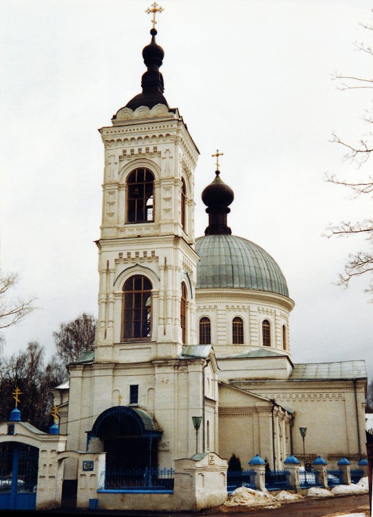
<path id="1" fill-rule="evenodd" d="M 0 445 L 0 510 L 34 510 L 39 449 L 19 442 Z"/>

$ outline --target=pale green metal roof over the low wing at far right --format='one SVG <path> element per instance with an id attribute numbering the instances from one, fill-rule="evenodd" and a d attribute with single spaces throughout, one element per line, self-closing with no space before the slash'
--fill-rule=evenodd
<path id="1" fill-rule="evenodd" d="M 339 363 L 304 363 L 295 365 L 290 381 L 328 381 L 329 379 L 367 378 L 365 361 Z"/>

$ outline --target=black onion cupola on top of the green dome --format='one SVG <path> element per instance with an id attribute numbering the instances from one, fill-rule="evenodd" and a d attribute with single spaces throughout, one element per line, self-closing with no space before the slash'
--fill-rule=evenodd
<path id="1" fill-rule="evenodd" d="M 231 228 L 226 224 L 226 214 L 231 212 L 228 208 L 235 199 L 231 187 L 220 179 L 220 171 L 215 172 L 214 181 L 207 185 L 202 192 L 202 201 L 207 206 L 209 214 L 209 226 L 204 230 L 205 235 L 231 234 Z"/>

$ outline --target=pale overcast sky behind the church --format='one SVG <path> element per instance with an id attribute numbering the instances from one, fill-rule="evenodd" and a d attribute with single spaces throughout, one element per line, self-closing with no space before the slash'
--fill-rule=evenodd
<path id="1" fill-rule="evenodd" d="M 18 294 L 39 307 L 7 330 L 6 352 L 52 332 L 81 312 L 97 314 L 103 145 L 97 129 L 140 92 L 150 5 L 142 0 L 12 0 L 0 3 L 0 265 L 20 274 Z M 360 179 L 330 143 L 356 143 L 369 128 L 370 90 L 339 91 L 332 74 L 371 77 L 355 41 L 372 42 L 368 0 L 163 0 L 164 95 L 200 150 L 196 236 L 207 215 L 200 192 L 222 179 L 235 191 L 233 234 L 279 263 L 295 309 L 296 363 L 365 359 L 373 376 L 373 305 L 368 278 L 334 285 L 360 236 L 326 239 L 328 223 L 372 216 L 326 183 L 334 172 Z"/>

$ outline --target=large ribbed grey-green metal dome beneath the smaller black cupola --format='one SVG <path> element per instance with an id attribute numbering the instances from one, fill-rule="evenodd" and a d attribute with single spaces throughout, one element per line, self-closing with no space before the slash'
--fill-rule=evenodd
<path id="1" fill-rule="evenodd" d="M 233 288 L 289 296 L 284 274 L 257 244 L 235 235 L 205 235 L 196 239 L 197 289 Z"/>

